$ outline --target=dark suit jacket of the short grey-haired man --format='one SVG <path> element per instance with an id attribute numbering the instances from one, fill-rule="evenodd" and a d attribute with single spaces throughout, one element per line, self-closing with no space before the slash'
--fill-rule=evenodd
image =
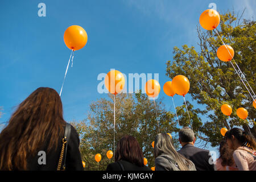
<path id="1" fill-rule="evenodd" d="M 188 143 L 177 152 L 191 160 L 195 164 L 197 171 L 214 171 L 214 164 L 211 163 L 212 159 L 209 150 L 197 148 Z"/>

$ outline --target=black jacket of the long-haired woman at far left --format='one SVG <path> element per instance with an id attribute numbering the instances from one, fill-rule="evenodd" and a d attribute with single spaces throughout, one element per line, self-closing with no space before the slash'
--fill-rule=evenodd
<path id="1" fill-rule="evenodd" d="M 48 142 L 44 143 L 43 146 L 40 148 L 39 151 L 46 152 L 46 164 L 39 164 L 38 160 L 40 160 L 40 157 L 42 157 L 43 155 L 38 155 L 38 151 L 36 152 L 35 156 L 31 156 L 30 158 L 28 158 L 27 169 L 36 171 L 55 171 L 59 163 L 60 151 L 62 147 L 62 138 L 63 136 L 59 138 L 56 151 L 54 150 L 54 148 L 52 148 L 51 151 L 47 152 Z M 67 147 L 66 170 L 84 170 L 84 167 L 82 166 L 81 154 L 79 151 L 79 144 L 79 135 L 77 134 L 76 129 L 71 126 L 71 134 L 68 140 Z"/>

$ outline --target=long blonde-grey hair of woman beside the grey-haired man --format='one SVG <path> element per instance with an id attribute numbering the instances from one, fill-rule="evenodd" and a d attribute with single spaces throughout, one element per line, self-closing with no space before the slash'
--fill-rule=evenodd
<path id="1" fill-rule="evenodd" d="M 188 166 L 192 165 L 189 160 L 175 150 L 170 135 L 166 133 L 160 133 L 155 137 L 154 157 L 157 158 L 161 154 L 170 155 L 176 160 L 181 171 L 188 171 Z"/>

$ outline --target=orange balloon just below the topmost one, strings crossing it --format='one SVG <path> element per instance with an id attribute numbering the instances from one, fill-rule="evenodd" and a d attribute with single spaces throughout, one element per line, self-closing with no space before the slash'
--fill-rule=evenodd
<path id="1" fill-rule="evenodd" d="M 221 61 L 228 62 L 234 57 L 234 49 L 229 45 L 222 45 L 217 50 L 217 57 Z"/>

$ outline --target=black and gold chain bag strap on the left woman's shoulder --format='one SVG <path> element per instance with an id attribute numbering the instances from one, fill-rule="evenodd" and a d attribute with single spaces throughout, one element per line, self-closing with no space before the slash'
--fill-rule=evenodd
<path id="1" fill-rule="evenodd" d="M 65 131 L 64 131 L 64 137 L 62 139 L 62 147 L 61 147 L 61 152 L 60 152 L 59 163 L 58 163 L 58 166 L 57 166 L 57 171 L 60 171 L 63 156 L 64 156 L 63 170 L 65 170 L 67 150 L 68 150 L 67 149 L 68 148 L 68 140 L 69 140 L 70 134 L 71 134 L 71 125 L 69 123 L 66 123 Z M 64 155 L 64 153 L 65 153 L 65 155 Z"/>

